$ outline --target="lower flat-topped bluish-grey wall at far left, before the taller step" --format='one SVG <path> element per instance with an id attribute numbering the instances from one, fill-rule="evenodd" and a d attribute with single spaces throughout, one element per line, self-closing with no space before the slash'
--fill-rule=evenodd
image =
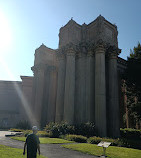
<path id="1" fill-rule="evenodd" d="M 21 119 L 17 86 L 21 89 L 21 82 L 0 81 L 0 128 L 15 126 Z"/>

